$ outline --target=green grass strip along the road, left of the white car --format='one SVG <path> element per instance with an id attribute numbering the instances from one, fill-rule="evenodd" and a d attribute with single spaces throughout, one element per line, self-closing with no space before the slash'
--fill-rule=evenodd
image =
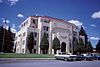
<path id="1" fill-rule="evenodd" d="M 54 58 L 54 55 L 2 53 L 0 54 L 0 58 Z"/>

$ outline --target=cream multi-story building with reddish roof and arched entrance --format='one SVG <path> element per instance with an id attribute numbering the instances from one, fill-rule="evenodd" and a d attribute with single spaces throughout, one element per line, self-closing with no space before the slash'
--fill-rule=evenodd
<path id="1" fill-rule="evenodd" d="M 40 43 L 43 33 L 47 33 L 49 41 L 48 54 L 54 54 L 52 41 L 55 37 L 60 40 L 61 52 L 73 53 L 73 38 L 78 38 L 77 27 L 62 19 L 49 16 L 30 16 L 20 25 L 20 30 L 16 33 L 15 46 L 16 53 L 27 53 L 27 37 L 34 33 L 33 53 L 41 54 Z"/>

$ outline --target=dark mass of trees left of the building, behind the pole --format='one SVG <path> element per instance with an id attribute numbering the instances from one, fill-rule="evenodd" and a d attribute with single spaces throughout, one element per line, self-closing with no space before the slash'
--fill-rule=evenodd
<path id="1" fill-rule="evenodd" d="M 11 28 L 8 30 L 0 27 L 0 51 L 1 52 L 13 52 L 14 46 L 14 36 L 15 34 L 11 32 Z"/>

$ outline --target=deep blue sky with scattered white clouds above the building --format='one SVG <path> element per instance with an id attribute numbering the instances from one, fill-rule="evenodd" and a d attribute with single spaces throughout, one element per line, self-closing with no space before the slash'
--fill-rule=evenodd
<path id="1" fill-rule="evenodd" d="M 0 0 L 0 26 L 6 18 L 12 32 L 29 16 L 46 15 L 82 25 L 93 47 L 100 39 L 100 0 Z"/>

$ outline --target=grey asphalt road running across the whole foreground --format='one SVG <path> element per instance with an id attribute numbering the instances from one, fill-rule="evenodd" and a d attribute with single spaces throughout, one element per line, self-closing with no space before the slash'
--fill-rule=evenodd
<path id="1" fill-rule="evenodd" d="M 8 60 L 0 67 L 100 67 L 100 61 Z"/>

